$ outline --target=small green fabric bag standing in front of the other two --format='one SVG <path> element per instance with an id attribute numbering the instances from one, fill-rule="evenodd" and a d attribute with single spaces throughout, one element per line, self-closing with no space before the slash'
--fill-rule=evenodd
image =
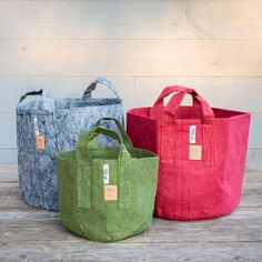
<path id="1" fill-rule="evenodd" d="M 119 133 L 100 127 L 114 121 Z M 118 120 L 103 118 L 82 133 L 75 150 L 57 154 L 62 224 L 90 240 L 111 242 L 148 230 L 157 192 L 157 154 L 134 149 Z M 119 142 L 101 148 L 104 134 Z"/>

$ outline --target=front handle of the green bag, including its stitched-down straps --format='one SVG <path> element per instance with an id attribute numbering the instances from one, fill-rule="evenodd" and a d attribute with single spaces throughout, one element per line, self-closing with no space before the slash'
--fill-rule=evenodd
<path id="1" fill-rule="evenodd" d="M 129 183 L 129 167 L 130 153 L 125 147 L 124 139 L 117 132 L 94 127 L 92 130 L 84 132 L 80 135 L 75 148 L 77 157 L 77 173 L 78 173 L 78 206 L 90 209 L 92 205 L 92 179 L 91 179 L 91 159 L 89 157 L 89 142 L 98 134 L 104 134 L 120 143 L 120 152 L 118 158 L 119 164 L 119 190 L 118 190 L 118 204 L 120 209 L 130 208 L 130 183 Z"/>

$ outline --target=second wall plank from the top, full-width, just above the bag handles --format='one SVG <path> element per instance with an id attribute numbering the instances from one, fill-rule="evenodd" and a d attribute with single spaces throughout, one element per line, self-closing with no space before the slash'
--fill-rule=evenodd
<path id="1" fill-rule="evenodd" d="M 0 77 L 260 77 L 261 60 L 262 40 L 0 41 Z"/>

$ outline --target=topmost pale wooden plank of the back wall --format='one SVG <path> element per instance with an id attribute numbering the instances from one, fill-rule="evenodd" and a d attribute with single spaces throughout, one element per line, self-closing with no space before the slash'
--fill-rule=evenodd
<path id="1" fill-rule="evenodd" d="M 261 11 L 240 1 L 0 1 L 0 39 L 262 39 Z"/>

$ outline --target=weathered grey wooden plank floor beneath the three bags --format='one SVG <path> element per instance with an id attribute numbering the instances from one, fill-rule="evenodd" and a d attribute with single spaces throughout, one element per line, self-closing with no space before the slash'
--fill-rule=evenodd
<path id="1" fill-rule="evenodd" d="M 245 172 L 242 200 L 231 215 L 154 219 L 150 231 L 103 244 L 64 230 L 59 213 L 24 204 L 17 165 L 0 165 L 0 261 L 262 261 L 262 172 Z"/>

